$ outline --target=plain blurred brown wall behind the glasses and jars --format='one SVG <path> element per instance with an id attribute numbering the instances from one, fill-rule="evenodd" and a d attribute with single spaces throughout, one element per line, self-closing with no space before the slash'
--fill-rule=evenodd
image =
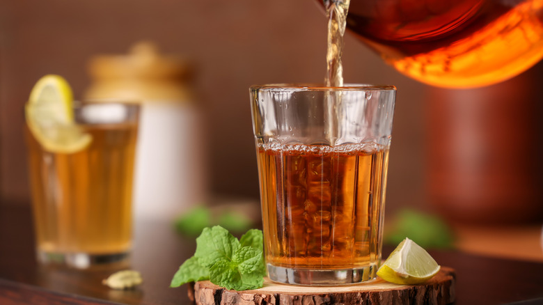
<path id="1" fill-rule="evenodd" d="M 258 198 L 248 88 L 324 79 L 326 18 L 314 0 L 0 0 L 3 198 L 29 198 L 22 107 L 36 80 L 63 75 L 81 97 L 93 54 L 123 54 L 140 40 L 198 67 L 212 194 Z M 427 93 L 439 102 L 449 91 L 403 77 L 349 34 L 344 66 L 347 82 L 397 86 L 388 211 L 428 209 Z"/>

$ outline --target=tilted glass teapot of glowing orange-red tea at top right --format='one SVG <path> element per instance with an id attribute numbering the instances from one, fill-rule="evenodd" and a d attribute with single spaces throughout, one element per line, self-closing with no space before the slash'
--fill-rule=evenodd
<path id="1" fill-rule="evenodd" d="M 495 84 L 543 57 L 543 0 L 351 0 L 347 28 L 404 75 L 447 88 Z"/>

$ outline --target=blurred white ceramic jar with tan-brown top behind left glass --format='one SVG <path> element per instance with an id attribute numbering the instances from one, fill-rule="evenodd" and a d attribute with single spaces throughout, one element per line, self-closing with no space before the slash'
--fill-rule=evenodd
<path id="1" fill-rule="evenodd" d="M 85 98 L 141 102 L 133 194 L 136 219 L 171 220 L 202 203 L 207 189 L 203 120 L 180 56 L 143 42 L 127 55 L 91 59 Z"/>

